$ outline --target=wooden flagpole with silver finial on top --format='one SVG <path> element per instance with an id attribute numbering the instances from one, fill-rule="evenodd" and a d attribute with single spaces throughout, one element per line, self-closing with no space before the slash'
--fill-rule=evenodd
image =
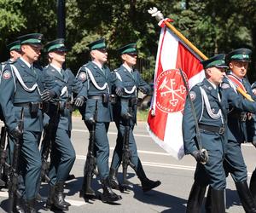
<path id="1" fill-rule="evenodd" d="M 201 57 L 202 60 L 207 60 L 208 57 L 206 55 L 204 55 L 199 49 L 197 49 L 195 47 L 195 45 L 191 42 L 189 42 L 189 39 L 187 39 L 186 37 L 183 36 L 183 34 L 181 32 L 179 32 L 175 26 L 172 26 L 167 20 L 165 20 L 164 15 L 157 9 L 157 8 L 153 8 L 153 9 L 148 9 L 148 14 L 151 14 L 153 17 L 155 17 L 156 20 L 158 21 L 163 21 L 165 23 L 165 25 L 173 32 L 175 33 L 175 35 L 177 35 L 177 37 L 183 41 L 183 43 L 185 43 L 186 45 L 188 45 L 188 47 L 190 49 L 192 49 L 195 54 L 199 55 Z M 230 79 L 227 76 L 228 79 Z M 253 98 L 251 97 L 251 95 L 247 94 L 245 91 L 243 91 L 238 85 L 236 85 L 236 90 L 237 92 L 239 92 L 242 96 L 244 96 L 248 101 L 253 101 Z"/>

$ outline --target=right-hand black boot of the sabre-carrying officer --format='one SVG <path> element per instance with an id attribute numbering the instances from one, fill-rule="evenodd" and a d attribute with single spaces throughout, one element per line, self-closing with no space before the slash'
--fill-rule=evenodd
<path id="1" fill-rule="evenodd" d="M 207 213 L 225 213 L 225 204 L 224 204 L 224 189 L 216 190 L 211 188 L 211 193 L 209 199 L 211 208 L 207 209 Z"/>

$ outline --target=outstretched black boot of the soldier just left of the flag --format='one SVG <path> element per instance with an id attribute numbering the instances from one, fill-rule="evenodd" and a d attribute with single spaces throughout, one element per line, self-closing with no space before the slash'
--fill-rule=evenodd
<path id="1" fill-rule="evenodd" d="M 149 190 L 153 189 L 154 187 L 160 186 L 160 181 L 151 181 L 146 176 L 143 170 L 143 164 L 141 163 L 140 159 L 138 159 L 138 165 L 136 169 L 137 177 L 140 179 L 143 187 L 143 192 L 148 192 Z"/>

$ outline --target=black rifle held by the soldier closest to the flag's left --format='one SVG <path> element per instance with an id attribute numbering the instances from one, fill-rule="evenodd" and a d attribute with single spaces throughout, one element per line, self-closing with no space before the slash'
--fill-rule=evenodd
<path id="1" fill-rule="evenodd" d="M 128 101 L 128 113 L 131 115 L 131 99 Z M 125 119 L 125 135 L 124 135 L 124 144 L 123 144 L 123 153 L 122 153 L 122 165 L 123 165 L 123 184 L 131 185 L 131 182 L 127 180 L 127 169 L 128 165 L 131 166 L 133 170 L 136 170 L 136 166 L 131 163 L 131 150 L 129 148 L 129 140 L 130 140 L 130 121 L 131 117 Z M 125 187 L 125 186 L 124 186 Z"/>

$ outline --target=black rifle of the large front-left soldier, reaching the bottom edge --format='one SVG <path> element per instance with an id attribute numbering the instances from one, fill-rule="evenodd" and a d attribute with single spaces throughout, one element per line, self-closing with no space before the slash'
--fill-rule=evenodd
<path id="1" fill-rule="evenodd" d="M 20 111 L 20 120 L 18 121 L 18 128 L 23 133 L 24 129 L 24 108 Z M 19 170 L 19 159 L 20 159 L 20 147 L 21 147 L 22 136 L 15 138 L 15 150 L 13 154 L 12 163 L 9 170 L 9 212 L 13 212 L 13 207 L 16 197 L 21 197 L 18 192 L 18 170 Z"/>

